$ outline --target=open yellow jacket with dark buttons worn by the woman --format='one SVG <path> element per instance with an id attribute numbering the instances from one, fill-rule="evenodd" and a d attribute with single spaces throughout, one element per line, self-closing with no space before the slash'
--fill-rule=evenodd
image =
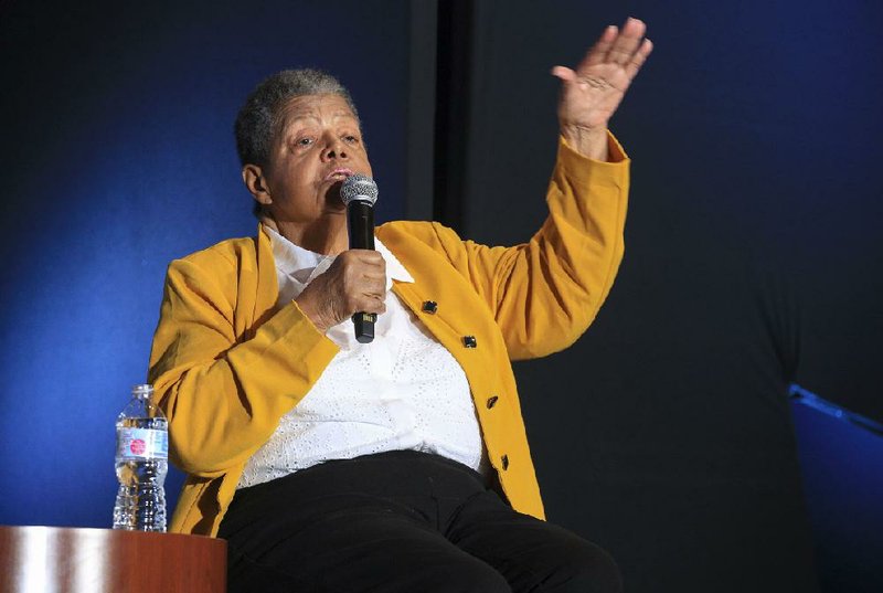
<path id="1" fill-rule="evenodd" d="M 428 222 L 376 229 L 415 280 L 394 283 L 393 292 L 466 372 L 509 502 L 539 518 L 510 360 L 573 343 L 610 289 L 623 257 L 629 161 L 613 137 L 609 145 L 611 162 L 598 162 L 560 139 L 550 214 L 526 244 L 488 247 Z M 338 352 L 297 304 L 277 309 L 277 298 L 263 231 L 169 266 L 149 381 L 169 419 L 172 462 L 188 473 L 171 531 L 217 533 L 246 460 Z"/>

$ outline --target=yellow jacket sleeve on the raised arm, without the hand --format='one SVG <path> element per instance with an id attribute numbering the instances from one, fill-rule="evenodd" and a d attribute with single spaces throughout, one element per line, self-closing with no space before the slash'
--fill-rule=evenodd
<path id="1" fill-rule="evenodd" d="M 610 136 L 610 162 L 558 140 L 549 216 L 524 244 L 489 247 L 434 223 L 454 266 L 490 307 L 512 360 L 571 346 L 595 319 L 624 253 L 629 160 Z"/>

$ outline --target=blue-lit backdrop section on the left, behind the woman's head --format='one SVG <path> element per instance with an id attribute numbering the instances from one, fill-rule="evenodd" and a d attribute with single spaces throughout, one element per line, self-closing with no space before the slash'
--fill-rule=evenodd
<path id="1" fill-rule="evenodd" d="M 402 218 L 407 10 L 383 6 L 3 4 L 0 523 L 109 526 L 166 266 L 256 231 L 233 120 L 263 77 L 350 86 L 377 218 Z"/>

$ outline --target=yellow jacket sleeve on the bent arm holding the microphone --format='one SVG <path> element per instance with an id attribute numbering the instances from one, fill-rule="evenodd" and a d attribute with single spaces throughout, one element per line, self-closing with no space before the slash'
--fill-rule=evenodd
<path id="1" fill-rule="evenodd" d="M 149 380 L 169 419 L 172 462 L 201 477 L 245 463 L 338 352 L 295 303 L 262 310 L 275 303 L 278 288 L 256 298 L 259 288 L 247 286 L 257 284 L 255 275 L 238 269 L 236 277 L 237 262 L 231 261 L 248 257 L 226 253 L 230 246 L 169 266 L 150 357 Z M 255 314 L 237 315 L 237 307 Z M 255 317 L 267 319 L 249 329 Z"/>

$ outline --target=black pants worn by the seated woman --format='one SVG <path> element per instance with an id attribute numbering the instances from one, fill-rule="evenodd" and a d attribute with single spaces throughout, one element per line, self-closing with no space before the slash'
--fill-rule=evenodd
<path id="1" fill-rule="evenodd" d="M 230 593 L 621 591 L 600 548 L 515 512 L 470 468 L 413 451 L 241 489 L 219 537 Z"/>

